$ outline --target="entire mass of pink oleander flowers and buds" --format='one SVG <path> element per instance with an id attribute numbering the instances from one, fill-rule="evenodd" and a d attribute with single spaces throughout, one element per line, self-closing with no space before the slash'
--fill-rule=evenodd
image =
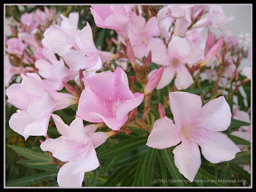
<path id="1" fill-rule="evenodd" d="M 181 142 L 173 150 L 174 162 L 190 182 L 201 166 L 198 146 L 209 162 L 234 159 L 240 149 L 220 133 L 232 117 L 226 100 L 251 78 L 250 65 L 240 65 L 250 58 L 250 37 L 237 39 L 223 27 L 234 18 L 211 5 L 92 5 L 90 13 L 96 26 L 117 33 L 106 39 L 107 50 L 95 46 L 92 23 L 78 29 L 83 19 L 78 13 L 67 17 L 47 7 L 22 14 L 6 36 L 7 102 L 18 108 L 9 126 L 25 140 L 46 137 L 53 118 L 61 136 L 46 137 L 41 149 L 66 162 L 58 185 L 82 186 L 84 174 L 100 166 L 95 149 L 116 134 L 130 134 L 128 126 L 147 130 L 151 148 Z M 212 28 L 222 35 L 216 37 Z M 17 76 L 22 81 L 12 83 Z M 195 84 L 200 89 L 205 80 L 214 85 L 210 95 L 186 92 Z M 233 91 L 226 94 L 230 86 Z M 163 89 L 169 96 L 157 102 L 160 118 L 151 122 L 154 93 Z M 54 112 L 71 105 L 78 108 L 69 126 Z M 166 115 L 169 105 L 174 122 Z M 105 126 L 110 130 L 98 131 Z M 250 140 L 250 127 L 232 134 Z"/>

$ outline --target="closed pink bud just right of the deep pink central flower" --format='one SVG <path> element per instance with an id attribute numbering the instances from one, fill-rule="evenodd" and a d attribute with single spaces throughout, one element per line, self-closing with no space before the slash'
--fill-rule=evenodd
<path id="1" fill-rule="evenodd" d="M 160 82 L 160 79 L 162 78 L 163 69 L 164 67 L 162 66 L 158 70 L 156 70 L 154 74 L 152 74 L 152 76 L 150 77 L 149 81 L 146 84 L 144 94 L 150 94 L 152 90 L 154 90 L 154 88 L 158 86 L 158 82 Z"/>

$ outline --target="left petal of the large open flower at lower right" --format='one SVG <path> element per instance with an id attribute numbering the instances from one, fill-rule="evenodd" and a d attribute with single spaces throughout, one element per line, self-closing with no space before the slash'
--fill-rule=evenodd
<path id="1" fill-rule="evenodd" d="M 151 131 L 146 145 L 156 149 L 165 149 L 171 146 L 176 146 L 182 141 L 180 131 L 170 118 L 159 118 L 154 122 L 153 130 Z"/>

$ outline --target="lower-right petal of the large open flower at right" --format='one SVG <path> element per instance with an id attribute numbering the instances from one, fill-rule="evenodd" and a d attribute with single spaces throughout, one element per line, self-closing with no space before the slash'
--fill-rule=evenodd
<path id="1" fill-rule="evenodd" d="M 206 142 L 199 142 L 203 156 L 212 163 L 230 161 L 240 152 L 238 146 L 226 136 L 215 131 L 209 131 Z"/>

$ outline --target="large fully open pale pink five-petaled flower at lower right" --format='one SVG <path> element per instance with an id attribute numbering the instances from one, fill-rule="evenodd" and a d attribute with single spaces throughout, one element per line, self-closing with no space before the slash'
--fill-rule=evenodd
<path id="1" fill-rule="evenodd" d="M 201 166 L 202 155 L 212 163 L 230 161 L 240 152 L 238 146 L 219 131 L 230 126 L 230 106 L 224 97 L 202 106 L 201 97 L 186 92 L 170 92 L 170 110 L 174 122 L 164 117 L 154 122 L 147 146 L 165 149 L 176 146 L 173 150 L 174 163 L 179 172 L 194 181 Z"/>

